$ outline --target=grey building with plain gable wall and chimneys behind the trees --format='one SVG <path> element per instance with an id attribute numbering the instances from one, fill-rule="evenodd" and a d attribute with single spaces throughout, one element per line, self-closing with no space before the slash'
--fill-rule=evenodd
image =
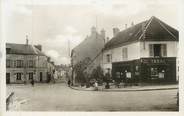
<path id="1" fill-rule="evenodd" d="M 77 64 L 84 63 L 84 65 L 82 65 L 82 68 L 87 73 L 91 73 L 95 67 L 100 65 L 101 59 L 99 58 L 99 55 L 102 56 L 101 52 L 104 47 L 105 41 L 105 30 L 102 29 L 101 33 L 98 33 L 96 28 L 92 27 L 90 36 L 87 36 L 83 42 L 72 49 L 71 64 L 73 68 L 73 83 L 77 81 L 77 76 L 81 76 L 77 75 L 76 73 L 77 68 L 79 68 L 77 67 Z"/>

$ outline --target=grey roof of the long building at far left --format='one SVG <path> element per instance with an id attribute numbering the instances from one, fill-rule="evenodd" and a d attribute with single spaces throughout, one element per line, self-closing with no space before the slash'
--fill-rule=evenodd
<path id="1" fill-rule="evenodd" d="M 6 43 L 6 48 L 10 48 L 8 54 L 23 54 L 23 55 L 45 55 L 33 45 Z"/>

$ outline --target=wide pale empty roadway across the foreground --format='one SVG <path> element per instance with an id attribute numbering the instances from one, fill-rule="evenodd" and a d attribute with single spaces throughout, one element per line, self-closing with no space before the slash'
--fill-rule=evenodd
<path id="1" fill-rule="evenodd" d="M 7 85 L 7 94 L 26 102 L 21 111 L 176 111 L 177 90 L 78 91 L 64 83 Z"/>

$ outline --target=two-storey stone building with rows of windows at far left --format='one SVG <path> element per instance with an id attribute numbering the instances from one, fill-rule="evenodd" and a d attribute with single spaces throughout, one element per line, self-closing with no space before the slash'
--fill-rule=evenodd
<path id="1" fill-rule="evenodd" d="M 48 57 L 41 45 L 6 44 L 6 83 L 47 82 Z M 53 70 L 53 69 L 52 69 Z"/>

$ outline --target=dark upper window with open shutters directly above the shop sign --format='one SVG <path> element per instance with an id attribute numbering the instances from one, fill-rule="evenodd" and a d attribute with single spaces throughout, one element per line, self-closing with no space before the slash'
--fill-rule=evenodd
<path id="1" fill-rule="evenodd" d="M 150 44 L 149 54 L 151 57 L 165 57 L 167 56 L 166 44 Z"/>

